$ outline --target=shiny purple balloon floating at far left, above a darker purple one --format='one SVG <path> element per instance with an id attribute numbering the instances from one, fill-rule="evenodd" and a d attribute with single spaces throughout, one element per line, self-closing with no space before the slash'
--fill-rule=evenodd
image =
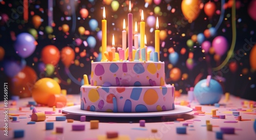
<path id="1" fill-rule="evenodd" d="M 14 44 L 16 53 L 22 57 L 29 57 L 35 51 L 35 38 L 29 33 L 21 33 Z"/>

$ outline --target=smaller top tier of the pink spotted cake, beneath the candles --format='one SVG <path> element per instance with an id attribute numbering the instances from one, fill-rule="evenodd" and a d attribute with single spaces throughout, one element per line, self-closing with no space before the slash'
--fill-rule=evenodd
<path id="1" fill-rule="evenodd" d="M 164 62 L 92 62 L 95 86 L 162 86 L 164 79 Z"/>

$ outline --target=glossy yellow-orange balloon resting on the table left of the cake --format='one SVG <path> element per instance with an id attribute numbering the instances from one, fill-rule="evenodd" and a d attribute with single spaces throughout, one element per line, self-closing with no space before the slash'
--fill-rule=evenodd
<path id="1" fill-rule="evenodd" d="M 35 82 L 32 97 L 38 104 L 48 104 L 51 95 L 60 95 L 59 84 L 51 78 L 42 78 Z"/>

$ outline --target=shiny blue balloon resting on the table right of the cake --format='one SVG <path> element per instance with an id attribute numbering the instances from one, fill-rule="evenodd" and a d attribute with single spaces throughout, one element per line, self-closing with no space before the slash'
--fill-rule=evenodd
<path id="1" fill-rule="evenodd" d="M 199 81 L 194 87 L 194 95 L 201 105 L 219 103 L 223 95 L 223 89 L 220 83 L 210 79 L 207 86 L 206 79 Z"/>

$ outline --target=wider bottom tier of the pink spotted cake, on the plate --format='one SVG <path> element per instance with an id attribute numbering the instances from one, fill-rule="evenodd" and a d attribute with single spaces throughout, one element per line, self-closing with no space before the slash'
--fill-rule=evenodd
<path id="1" fill-rule="evenodd" d="M 173 110 L 175 87 L 83 85 L 81 109 L 98 112 L 155 112 Z"/>

